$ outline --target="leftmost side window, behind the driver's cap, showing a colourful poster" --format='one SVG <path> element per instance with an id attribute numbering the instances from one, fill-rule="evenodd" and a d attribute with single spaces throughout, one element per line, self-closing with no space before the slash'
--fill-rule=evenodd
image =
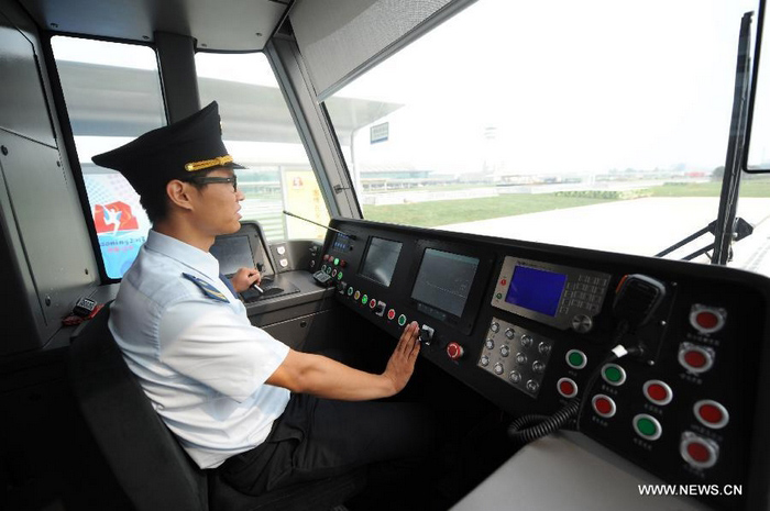
<path id="1" fill-rule="evenodd" d="M 91 156 L 166 124 L 155 52 L 66 36 L 51 44 L 107 276 L 121 278 L 150 221 L 125 178 L 94 165 Z"/>

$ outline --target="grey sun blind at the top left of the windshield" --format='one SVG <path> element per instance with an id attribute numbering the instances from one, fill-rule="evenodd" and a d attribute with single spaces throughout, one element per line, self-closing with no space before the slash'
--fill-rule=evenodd
<path id="1" fill-rule="evenodd" d="M 324 100 L 458 0 L 298 0 L 289 13 L 316 97 Z"/>

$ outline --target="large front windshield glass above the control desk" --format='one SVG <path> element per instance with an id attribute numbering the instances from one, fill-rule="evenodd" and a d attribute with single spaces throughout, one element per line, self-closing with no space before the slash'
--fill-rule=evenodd
<path id="1" fill-rule="evenodd" d="M 326 101 L 364 218 L 658 254 L 716 220 L 756 8 L 473 3 Z M 761 227 L 769 197 L 770 180 L 745 177 L 738 215 Z"/>

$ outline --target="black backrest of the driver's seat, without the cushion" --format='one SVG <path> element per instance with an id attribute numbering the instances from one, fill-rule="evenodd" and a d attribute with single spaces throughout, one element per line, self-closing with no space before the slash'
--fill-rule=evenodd
<path id="1" fill-rule="evenodd" d="M 139 511 L 208 510 L 207 478 L 129 369 L 105 307 L 73 342 L 69 379 L 86 423 Z"/>

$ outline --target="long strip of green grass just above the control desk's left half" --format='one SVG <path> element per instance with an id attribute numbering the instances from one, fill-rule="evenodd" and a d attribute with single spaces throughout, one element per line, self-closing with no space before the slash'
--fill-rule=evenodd
<path id="1" fill-rule="evenodd" d="M 481 199 L 439 200 L 395 205 L 364 205 L 364 218 L 375 222 L 432 227 L 474 220 L 537 213 L 612 202 L 606 199 L 556 197 L 553 193 L 505 195 Z"/>

